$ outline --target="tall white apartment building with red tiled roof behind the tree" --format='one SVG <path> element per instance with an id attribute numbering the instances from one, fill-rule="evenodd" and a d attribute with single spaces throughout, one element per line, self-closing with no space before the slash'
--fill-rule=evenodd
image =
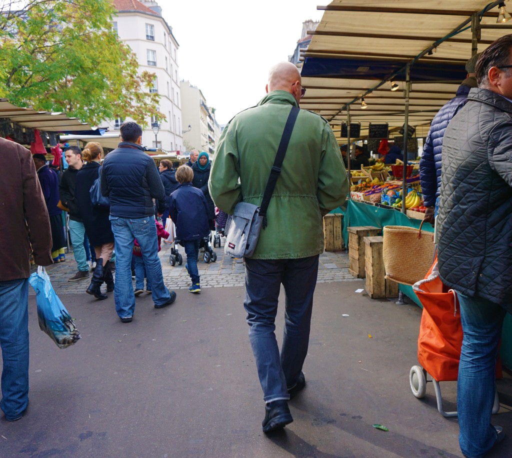
<path id="1" fill-rule="evenodd" d="M 178 73 L 178 42 L 173 29 L 162 17 L 157 2 L 147 0 L 114 0 L 117 14 L 113 26 L 119 38 L 136 54 L 139 71 L 155 73 L 152 92 L 160 95 L 159 111 L 165 115 L 158 125 L 156 119 L 148 119 L 142 133 L 142 145 L 147 148 L 163 148 L 166 151 L 185 150 L 182 136 L 181 96 Z M 107 121 L 111 132 L 119 129 L 124 121 Z"/>

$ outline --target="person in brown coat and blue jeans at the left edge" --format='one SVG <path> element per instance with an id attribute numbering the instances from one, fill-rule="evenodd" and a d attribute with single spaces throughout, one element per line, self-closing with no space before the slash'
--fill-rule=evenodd
<path id="1" fill-rule="evenodd" d="M 28 405 L 30 253 L 37 265 L 51 265 L 52 236 L 30 151 L 0 138 L 0 169 L 6 171 L 0 180 L 0 408 L 16 421 Z"/>

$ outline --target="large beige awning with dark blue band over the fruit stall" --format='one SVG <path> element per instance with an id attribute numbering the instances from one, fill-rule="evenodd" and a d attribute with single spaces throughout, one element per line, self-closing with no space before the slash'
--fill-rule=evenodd
<path id="1" fill-rule="evenodd" d="M 409 124 L 425 136 L 439 108 L 455 96 L 465 78 L 472 47 L 482 52 L 512 32 L 512 21 L 497 24 L 498 3 L 481 0 L 334 0 L 303 53 L 301 107 L 324 116 L 340 143 L 340 125 L 350 105 L 352 122 L 404 122 L 404 80 L 410 63 Z M 488 7 L 488 11 L 484 9 Z M 475 13 L 483 12 L 480 16 Z M 472 41 L 472 16 L 480 35 Z M 398 90 L 391 91 L 391 84 Z M 367 103 L 361 109 L 361 98 Z"/>

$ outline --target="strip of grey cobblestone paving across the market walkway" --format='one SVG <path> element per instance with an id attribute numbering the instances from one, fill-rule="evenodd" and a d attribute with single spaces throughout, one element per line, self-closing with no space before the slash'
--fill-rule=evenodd
<path id="1" fill-rule="evenodd" d="M 179 253 L 183 256 L 183 265 L 179 266 L 176 264 L 173 267 L 169 261 L 171 247 L 172 245 L 162 243 L 162 250 L 159 253 L 165 285 L 174 290 L 187 289 L 191 283 L 190 277 L 185 271 L 185 251 L 183 247 L 178 247 Z M 201 276 L 201 288 L 244 286 L 244 264 L 238 263 L 236 259 L 225 256 L 223 246 L 221 248 L 214 248 L 214 250 L 217 253 L 217 261 L 215 263 L 210 262 L 209 264 L 204 262 L 202 250 L 199 252 L 200 262 L 198 269 Z M 347 251 L 325 252 L 321 254 L 317 283 L 355 280 L 348 272 L 348 262 Z M 32 269 L 32 271 L 35 270 L 35 268 Z M 57 263 L 47 268 L 53 288 L 57 294 L 83 294 L 89 286 L 89 279 L 68 281 L 68 278 L 73 276 L 76 270 L 73 253 L 66 254 L 65 263 Z M 33 294 L 32 288 L 30 288 L 30 293 Z"/>

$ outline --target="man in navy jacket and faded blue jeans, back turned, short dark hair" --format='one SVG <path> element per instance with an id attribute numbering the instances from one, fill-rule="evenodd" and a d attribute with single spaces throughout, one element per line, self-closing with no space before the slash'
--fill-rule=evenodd
<path id="1" fill-rule="evenodd" d="M 110 221 L 116 251 L 116 311 L 123 323 L 132 321 L 135 295 L 131 260 L 134 239 L 140 246 L 146 275 L 151 279 L 155 309 L 176 300 L 165 287 L 158 258 L 158 238 L 153 199 L 158 213 L 165 209 L 165 191 L 155 161 L 142 149 L 142 129 L 135 122 L 121 125 L 121 143 L 103 161 L 101 192 L 110 197 Z"/>

